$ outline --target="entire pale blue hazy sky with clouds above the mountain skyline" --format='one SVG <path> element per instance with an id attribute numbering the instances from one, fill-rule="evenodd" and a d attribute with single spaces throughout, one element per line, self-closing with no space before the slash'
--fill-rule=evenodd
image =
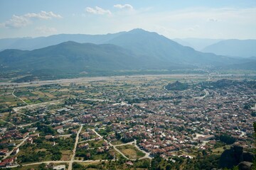
<path id="1" fill-rule="evenodd" d="M 0 0 L 0 38 L 106 34 L 256 39 L 256 0 Z"/>

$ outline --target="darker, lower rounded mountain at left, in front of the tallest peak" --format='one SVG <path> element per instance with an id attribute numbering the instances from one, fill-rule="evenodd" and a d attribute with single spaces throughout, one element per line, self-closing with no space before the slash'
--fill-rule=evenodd
<path id="1" fill-rule="evenodd" d="M 135 60 L 132 52 L 116 45 L 63 42 L 38 50 L 4 50 L 0 52 L 1 69 L 59 69 L 82 72 L 90 69 L 131 69 Z"/>

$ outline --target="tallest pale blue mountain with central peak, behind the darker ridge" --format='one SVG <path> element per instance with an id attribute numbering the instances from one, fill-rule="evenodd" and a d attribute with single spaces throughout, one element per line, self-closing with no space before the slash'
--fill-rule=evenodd
<path id="1" fill-rule="evenodd" d="M 159 61 L 161 64 L 175 63 L 200 66 L 206 64 L 223 65 L 223 62 L 230 64 L 234 62 L 228 57 L 216 57 L 213 54 L 198 52 L 191 47 L 184 47 L 163 35 L 142 29 L 123 33 L 107 43 L 127 48 L 136 54 L 150 57 L 154 62 Z"/>

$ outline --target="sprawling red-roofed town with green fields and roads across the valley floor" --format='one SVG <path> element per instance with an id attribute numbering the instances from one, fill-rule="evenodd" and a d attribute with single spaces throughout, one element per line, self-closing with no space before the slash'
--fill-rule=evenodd
<path id="1" fill-rule="evenodd" d="M 1 84 L 0 166 L 149 169 L 233 143 L 252 151 L 255 89 L 200 74 Z"/>

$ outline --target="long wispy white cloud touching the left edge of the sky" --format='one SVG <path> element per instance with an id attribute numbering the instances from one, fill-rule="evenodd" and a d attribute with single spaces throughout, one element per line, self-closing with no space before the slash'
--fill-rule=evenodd
<path id="1" fill-rule="evenodd" d="M 59 14 L 55 14 L 52 11 L 46 12 L 41 11 L 40 13 L 26 13 L 23 16 L 12 16 L 9 21 L 0 23 L 0 28 L 21 28 L 27 26 L 29 23 L 32 23 L 31 18 L 36 19 L 51 19 L 51 18 L 62 18 Z"/>

